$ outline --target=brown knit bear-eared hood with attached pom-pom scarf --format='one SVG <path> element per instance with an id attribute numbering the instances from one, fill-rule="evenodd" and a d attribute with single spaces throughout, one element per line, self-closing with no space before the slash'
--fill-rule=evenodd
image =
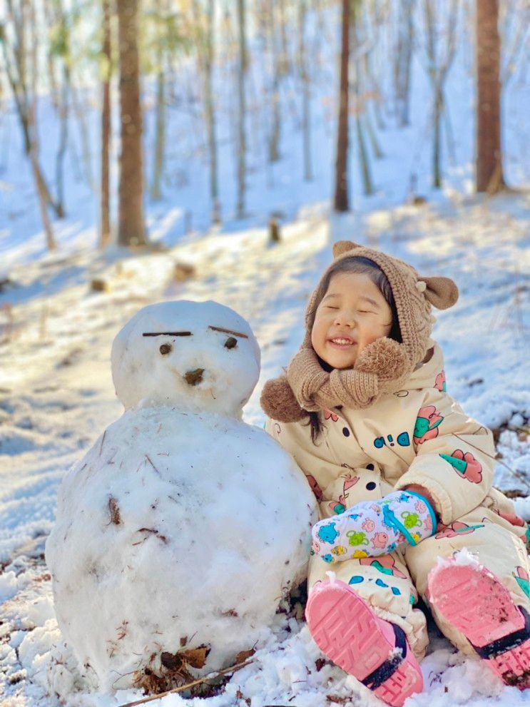
<path id="1" fill-rule="evenodd" d="M 431 345 L 432 305 L 444 310 L 458 299 L 453 280 L 423 277 L 412 265 L 379 250 L 342 240 L 333 246 L 333 255 L 335 260 L 308 302 L 305 339 L 290 363 L 287 376 L 267 381 L 263 388 L 261 406 L 269 417 L 280 422 L 295 422 L 305 417 L 307 410 L 336 405 L 368 407 L 381 395 L 399 390 Z M 402 343 L 383 337 L 361 352 L 352 370 L 327 373 L 311 345 L 312 318 L 322 283 L 345 258 L 368 258 L 386 275 L 394 295 Z"/>

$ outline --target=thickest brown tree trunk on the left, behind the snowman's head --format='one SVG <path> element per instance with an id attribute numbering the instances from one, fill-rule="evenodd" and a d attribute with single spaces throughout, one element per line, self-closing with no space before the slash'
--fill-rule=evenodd
<path id="1" fill-rule="evenodd" d="M 118 243 L 145 245 L 142 113 L 138 60 L 138 0 L 117 0 L 120 47 L 121 155 Z"/>

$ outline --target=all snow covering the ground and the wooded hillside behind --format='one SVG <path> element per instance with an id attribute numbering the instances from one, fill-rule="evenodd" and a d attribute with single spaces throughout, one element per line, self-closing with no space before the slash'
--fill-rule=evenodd
<path id="1" fill-rule="evenodd" d="M 335 31 L 335 25 L 332 25 Z M 330 27 L 324 36 L 335 41 Z M 418 41 L 421 41 L 419 37 Z M 28 161 L 22 156 L 14 113 L 1 116 L 4 148 L 0 176 L 0 275 L 11 285 L 0 292 L 0 702 L 6 707 L 117 707 L 142 698 L 139 690 L 114 695 L 88 691 L 71 650 L 53 618 L 51 576 L 44 543 L 56 516 L 58 487 L 101 432 L 122 413 L 109 352 L 116 333 L 154 302 L 215 300 L 248 320 L 262 350 L 260 380 L 244 419 L 261 427 L 263 382 L 277 375 L 303 334 L 307 295 L 331 260 L 335 240 L 356 240 L 412 262 L 424 275 L 448 275 L 461 297 L 441 312 L 434 336 L 446 358 L 447 384 L 464 410 L 499 433 L 496 485 L 520 492 L 517 512 L 530 519 L 528 444 L 528 275 L 530 160 L 529 83 L 514 74 L 504 93 L 506 177 L 518 190 L 495 198 L 472 195 L 474 45 L 464 31 L 449 73 L 446 95 L 453 123 L 454 156 L 444 143 L 444 188 L 429 188 L 430 101 L 428 78 L 414 59 L 411 125 L 392 119 L 379 133 L 384 158 L 372 163 L 376 193 L 364 198 L 355 144 L 352 213 L 330 213 L 335 159 L 335 65 L 315 69 L 312 134 L 315 180 L 301 180 L 301 135 L 285 124 L 282 160 L 265 166 L 258 121 L 250 134 L 248 218 L 233 218 L 235 182 L 230 134 L 230 86 L 220 96 L 220 150 L 224 225 L 208 231 L 208 166 L 200 153 L 194 114 L 172 115 L 172 144 L 165 198 L 147 205 L 148 228 L 163 249 L 96 254 L 93 193 L 80 166 L 67 164 L 68 216 L 56 222 L 59 250 L 44 250 Z M 253 66 L 254 78 L 259 68 Z M 193 76 L 191 80 L 193 80 Z M 260 84 L 255 90 L 259 92 Z M 151 99 L 146 85 L 146 105 Z M 91 99 L 86 93 L 87 103 Z M 223 102 L 224 101 L 224 102 Z M 222 104 L 222 106 L 221 106 Z M 228 108 L 227 108 L 228 106 Z M 223 113 L 223 111 L 226 112 Z M 56 116 L 43 98 L 44 130 Z M 94 126 L 93 108 L 86 110 Z M 153 113 L 146 114 L 152 144 Z M 151 123 L 150 123 L 151 121 Z M 295 123 L 295 121 L 292 121 Z M 95 135 L 94 131 L 94 135 Z M 5 135 L 9 139 L 5 139 Z M 185 147 L 181 136 L 187 136 Z M 76 138 L 73 138 L 75 141 Z M 355 142 L 355 141 L 354 141 Z M 53 141 L 42 141 L 43 162 L 53 170 Z M 93 145 L 97 146 L 96 138 Z M 174 146 L 174 148 L 173 148 Z M 116 147 L 116 145 L 115 145 Z M 78 148 L 78 145 L 76 145 Z M 116 165 L 116 159 L 113 160 Z M 412 175 L 424 205 L 404 205 Z M 180 186 L 178 181 L 180 180 Z M 5 207 L 5 208 L 4 208 Z M 192 233 L 185 233 L 185 212 Z M 282 242 L 267 242 L 265 224 L 282 217 Z M 179 282 L 175 263 L 191 263 L 195 276 Z M 106 291 L 89 283 L 101 278 Z M 243 397 L 243 396 L 242 396 Z M 326 661 L 302 620 L 303 596 L 275 615 L 251 663 L 236 671 L 217 695 L 172 694 L 156 707 L 327 707 L 380 704 L 354 678 Z M 481 661 L 462 656 L 430 624 L 429 653 L 422 661 L 425 691 L 407 707 L 511 707 L 530 703 L 530 691 L 503 686 Z"/>

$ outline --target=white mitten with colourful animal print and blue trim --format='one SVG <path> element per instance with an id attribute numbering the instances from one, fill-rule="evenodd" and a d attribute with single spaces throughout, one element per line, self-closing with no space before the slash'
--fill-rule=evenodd
<path id="1" fill-rule="evenodd" d="M 312 548 L 326 562 L 387 555 L 399 545 L 416 545 L 436 529 L 431 504 L 412 491 L 394 491 L 363 501 L 312 529 Z"/>

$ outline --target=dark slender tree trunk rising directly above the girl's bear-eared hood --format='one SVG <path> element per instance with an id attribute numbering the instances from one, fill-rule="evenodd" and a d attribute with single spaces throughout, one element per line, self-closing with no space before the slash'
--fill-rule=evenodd
<path id="1" fill-rule="evenodd" d="M 350 0 L 342 0 L 342 41 L 340 49 L 339 120 L 335 161 L 335 210 L 348 205 L 348 64 L 350 59 Z"/>

